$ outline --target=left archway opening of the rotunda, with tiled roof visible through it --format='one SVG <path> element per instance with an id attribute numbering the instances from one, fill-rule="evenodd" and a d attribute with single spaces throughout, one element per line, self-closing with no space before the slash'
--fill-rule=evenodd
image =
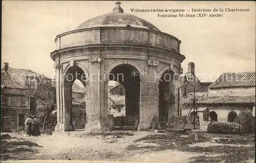
<path id="1" fill-rule="evenodd" d="M 72 130 L 84 128 L 87 119 L 87 76 L 80 67 L 72 66 L 65 74 L 64 81 L 65 114 L 68 114 Z"/>

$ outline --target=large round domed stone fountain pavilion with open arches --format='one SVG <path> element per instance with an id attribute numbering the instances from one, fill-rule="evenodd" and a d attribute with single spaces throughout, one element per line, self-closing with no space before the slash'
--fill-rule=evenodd
<path id="1" fill-rule="evenodd" d="M 88 92 L 87 131 L 111 128 L 109 80 L 124 87 L 125 116 L 138 117 L 138 130 L 149 129 L 153 117 L 167 121 L 176 114 L 178 78 L 185 59 L 180 54 L 181 41 L 124 13 L 119 2 L 113 12 L 82 22 L 58 35 L 55 43 L 51 58 L 57 74 L 56 131 L 72 130 L 70 88 L 76 78 Z"/>

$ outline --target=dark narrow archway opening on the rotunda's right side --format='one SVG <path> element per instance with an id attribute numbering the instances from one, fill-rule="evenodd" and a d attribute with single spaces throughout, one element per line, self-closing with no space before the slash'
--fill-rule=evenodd
<path id="1" fill-rule="evenodd" d="M 174 97 L 174 72 L 170 69 L 164 71 L 159 79 L 159 121 L 167 122 L 172 115 L 172 106 L 175 103 Z"/>

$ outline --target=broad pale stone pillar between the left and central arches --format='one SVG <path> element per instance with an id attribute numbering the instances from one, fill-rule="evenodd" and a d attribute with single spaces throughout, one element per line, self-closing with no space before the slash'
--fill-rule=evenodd
<path id="1" fill-rule="evenodd" d="M 91 62 L 89 72 L 87 91 L 90 102 L 87 107 L 88 123 L 85 129 L 89 132 L 110 130 L 108 127 L 108 104 L 105 105 L 106 97 L 104 97 L 108 85 L 104 84 L 100 63 Z"/>

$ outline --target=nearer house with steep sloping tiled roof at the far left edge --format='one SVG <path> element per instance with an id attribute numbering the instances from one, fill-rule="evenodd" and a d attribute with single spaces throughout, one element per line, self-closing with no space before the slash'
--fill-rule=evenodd
<path id="1" fill-rule="evenodd" d="M 17 129 L 24 126 L 30 113 L 27 89 L 1 72 L 1 130 Z"/>

